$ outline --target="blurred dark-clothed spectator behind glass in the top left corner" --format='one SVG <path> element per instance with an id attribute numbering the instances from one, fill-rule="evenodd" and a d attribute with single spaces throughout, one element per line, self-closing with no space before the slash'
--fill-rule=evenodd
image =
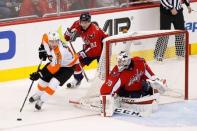
<path id="1" fill-rule="evenodd" d="M 15 2 L 11 0 L 0 1 L 0 18 L 10 18 L 16 16 Z"/>

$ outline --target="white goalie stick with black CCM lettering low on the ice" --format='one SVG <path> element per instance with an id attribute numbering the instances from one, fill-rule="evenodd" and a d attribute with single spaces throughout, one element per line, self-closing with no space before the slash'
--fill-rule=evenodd
<path id="1" fill-rule="evenodd" d="M 69 100 L 69 103 L 74 104 L 74 105 L 79 105 L 83 108 L 90 109 L 96 112 L 101 112 L 102 111 L 102 106 L 97 106 L 89 103 L 83 103 L 80 101 L 75 101 L 75 100 Z M 137 117 L 146 117 L 150 115 L 150 112 L 138 112 L 134 111 L 132 109 L 125 109 L 125 108 L 115 108 L 114 109 L 115 114 L 122 114 L 122 115 L 129 115 L 129 116 L 137 116 Z"/>

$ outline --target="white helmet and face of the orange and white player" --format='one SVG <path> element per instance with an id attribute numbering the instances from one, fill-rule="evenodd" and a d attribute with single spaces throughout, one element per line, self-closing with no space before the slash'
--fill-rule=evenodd
<path id="1" fill-rule="evenodd" d="M 48 39 L 49 39 L 49 46 L 50 48 L 54 49 L 57 47 L 60 37 L 57 32 L 49 32 L 48 33 Z"/>

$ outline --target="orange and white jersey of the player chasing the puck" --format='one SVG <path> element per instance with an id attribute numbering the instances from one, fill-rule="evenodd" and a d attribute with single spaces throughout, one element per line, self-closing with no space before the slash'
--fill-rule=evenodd
<path id="1" fill-rule="evenodd" d="M 51 63 L 47 66 L 47 69 L 55 74 L 60 67 L 72 67 L 79 63 L 78 55 L 73 54 L 69 47 L 63 46 L 63 43 L 59 41 L 58 46 L 55 49 L 51 49 L 48 44 L 48 36 L 44 34 L 42 44 L 48 55 L 52 56 Z"/>

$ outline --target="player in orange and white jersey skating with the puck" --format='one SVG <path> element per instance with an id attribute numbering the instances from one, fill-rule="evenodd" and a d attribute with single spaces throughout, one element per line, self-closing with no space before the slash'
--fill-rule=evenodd
<path id="1" fill-rule="evenodd" d="M 78 55 L 63 45 L 57 32 L 44 34 L 39 48 L 39 58 L 49 59 L 43 69 L 30 74 L 31 80 L 38 80 L 36 93 L 29 98 L 35 108 L 41 110 L 44 102 L 55 90 L 62 86 L 74 73 L 74 66 L 79 63 Z"/>

